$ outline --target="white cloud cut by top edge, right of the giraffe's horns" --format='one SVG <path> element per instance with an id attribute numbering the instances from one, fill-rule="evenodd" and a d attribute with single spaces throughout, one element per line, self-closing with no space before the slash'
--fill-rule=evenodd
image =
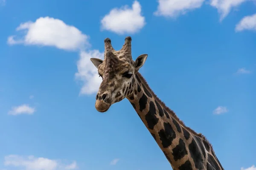
<path id="1" fill-rule="evenodd" d="M 203 3 L 204 0 L 158 0 L 157 11 L 154 14 L 175 18 L 195 8 L 200 8 Z"/>

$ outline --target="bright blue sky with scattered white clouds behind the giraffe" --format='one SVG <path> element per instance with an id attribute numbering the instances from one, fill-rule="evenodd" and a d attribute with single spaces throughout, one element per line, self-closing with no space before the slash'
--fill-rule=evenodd
<path id="1" fill-rule="evenodd" d="M 256 3 L 0 0 L 0 170 L 169 170 L 127 99 L 94 107 L 104 39 L 226 170 L 256 170 Z"/>

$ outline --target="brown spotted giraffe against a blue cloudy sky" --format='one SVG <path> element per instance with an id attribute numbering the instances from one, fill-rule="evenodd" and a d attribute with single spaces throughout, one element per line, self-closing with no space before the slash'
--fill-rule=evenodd
<path id="1" fill-rule="evenodd" d="M 132 59 L 131 37 L 125 38 L 119 51 L 114 50 L 109 38 L 104 43 L 104 60 L 90 59 L 102 77 L 96 110 L 106 112 L 111 105 L 127 98 L 173 170 L 224 170 L 205 136 L 187 127 L 138 72 L 148 55 Z"/>

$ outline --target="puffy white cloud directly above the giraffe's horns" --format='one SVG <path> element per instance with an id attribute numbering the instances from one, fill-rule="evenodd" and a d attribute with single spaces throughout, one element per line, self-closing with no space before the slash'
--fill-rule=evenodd
<path id="1" fill-rule="evenodd" d="M 116 34 L 134 34 L 145 26 L 145 17 L 141 14 L 140 3 L 135 0 L 132 8 L 127 5 L 113 8 L 101 20 L 101 29 Z"/>

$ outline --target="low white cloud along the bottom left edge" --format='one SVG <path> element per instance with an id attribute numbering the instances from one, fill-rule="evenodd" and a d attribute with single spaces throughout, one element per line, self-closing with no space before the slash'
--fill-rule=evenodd
<path id="1" fill-rule="evenodd" d="M 78 168 L 76 161 L 71 164 L 63 164 L 59 160 L 52 160 L 48 158 L 35 156 L 18 156 L 9 155 L 4 158 L 5 166 L 18 167 L 19 169 L 25 168 L 26 170 L 73 170 Z"/>

